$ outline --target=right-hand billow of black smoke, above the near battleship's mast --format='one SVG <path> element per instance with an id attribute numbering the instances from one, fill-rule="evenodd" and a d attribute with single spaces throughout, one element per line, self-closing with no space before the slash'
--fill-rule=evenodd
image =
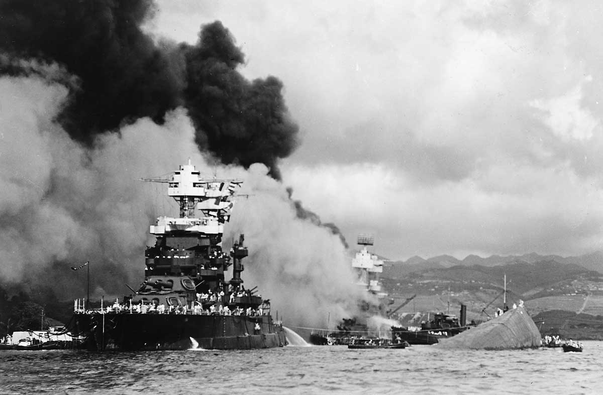
<path id="1" fill-rule="evenodd" d="M 182 48 L 186 107 L 195 127 L 203 131 L 196 138 L 200 148 L 211 147 L 227 164 L 264 163 L 280 178 L 276 160 L 295 148 L 297 126 L 288 117 L 279 79 L 243 78 L 236 67 L 244 56 L 220 22 L 205 26 L 197 45 Z"/>

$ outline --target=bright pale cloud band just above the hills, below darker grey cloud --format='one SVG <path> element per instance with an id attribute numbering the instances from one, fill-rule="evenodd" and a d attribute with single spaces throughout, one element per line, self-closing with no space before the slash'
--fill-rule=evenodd
<path id="1" fill-rule="evenodd" d="M 300 198 L 344 236 L 376 235 L 374 252 L 391 259 L 450 253 L 536 251 L 571 255 L 597 249 L 603 193 L 569 163 L 556 169 L 502 163 L 460 182 L 425 185 L 374 164 L 285 167 Z"/>

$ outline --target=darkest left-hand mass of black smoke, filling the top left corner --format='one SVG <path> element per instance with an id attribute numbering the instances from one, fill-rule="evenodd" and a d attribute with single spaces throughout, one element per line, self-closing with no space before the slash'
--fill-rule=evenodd
<path id="1" fill-rule="evenodd" d="M 0 47 L 17 57 L 42 58 L 79 78 L 58 116 L 72 138 L 148 116 L 161 122 L 179 102 L 182 77 L 140 25 L 152 2 L 7 0 L 0 3 Z M 11 70 L 14 73 L 14 70 Z"/>

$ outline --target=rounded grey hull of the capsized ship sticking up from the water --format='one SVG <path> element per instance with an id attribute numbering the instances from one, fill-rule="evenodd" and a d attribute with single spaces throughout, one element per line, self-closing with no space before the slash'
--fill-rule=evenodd
<path id="1" fill-rule="evenodd" d="M 540 331 L 534 321 L 523 307 L 517 307 L 455 337 L 440 339 L 438 347 L 513 350 L 540 347 L 541 344 Z"/>

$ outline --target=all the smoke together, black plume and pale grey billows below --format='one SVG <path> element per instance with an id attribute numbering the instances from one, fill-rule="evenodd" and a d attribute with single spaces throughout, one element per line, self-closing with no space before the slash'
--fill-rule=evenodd
<path id="1" fill-rule="evenodd" d="M 195 45 L 157 43 L 140 28 L 153 7 L 0 4 L 0 283 L 71 299 L 86 275 L 69 267 L 90 261 L 92 297 L 129 293 L 142 281 L 148 225 L 178 215 L 160 185 L 137 179 L 191 158 L 206 175 L 245 181 L 250 198 L 224 235 L 225 247 L 246 235 L 245 285 L 289 325 L 350 316 L 363 295 L 344 238 L 277 181 L 298 132 L 282 82 L 245 79 L 220 22 Z"/>

